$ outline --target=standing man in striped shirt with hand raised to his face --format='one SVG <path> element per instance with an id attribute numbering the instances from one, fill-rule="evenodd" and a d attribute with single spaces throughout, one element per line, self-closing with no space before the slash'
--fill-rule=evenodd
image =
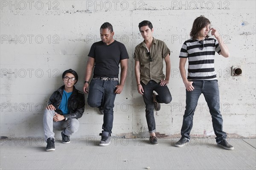
<path id="1" fill-rule="evenodd" d="M 217 39 L 209 37 L 209 31 Z M 215 52 L 223 57 L 229 57 L 227 46 L 215 28 L 210 28 L 210 21 L 204 16 L 197 17 L 190 32 L 191 39 L 186 40 L 180 50 L 180 74 L 186 87 L 186 110 L 181 127 L 181 138 L 176 147 L 182 147 L 189 142 L 190 131 L 193 125 L 193 116 L 199 96 L 204 98 L 212 116 L 212 126 L 218 146 L 233 150 L 222 130 L 223 119 L 220 112 L 218 80 L 214 70 Z M 188 77 L 185 64 L 189 59 Z"/>

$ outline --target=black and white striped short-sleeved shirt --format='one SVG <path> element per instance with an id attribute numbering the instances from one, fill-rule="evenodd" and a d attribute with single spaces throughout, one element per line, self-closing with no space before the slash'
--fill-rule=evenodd
<path id="1" fill-rule="evenodd" d="M 201 41 L 189 39 L 183 43 L 180 58 L 189 59 L 188 80 L 217 79 L 214 70 L 215 51 L 219 54 L 221 48 L 213 38 Z"/>

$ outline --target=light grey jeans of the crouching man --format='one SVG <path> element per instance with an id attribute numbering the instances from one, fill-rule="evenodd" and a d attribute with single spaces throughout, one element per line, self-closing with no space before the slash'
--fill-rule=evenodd
<path id="1" fill-rule="evenodd" d="M 44 110 L 44 136 L 45 140 L 48 138 L 54 138 L 53 130 L 62 130 L 67 136 L 76 133 L 79 128 L 79 122 L 77 119 L 68 119 L 66 121 L 53 121 L 53 116 L 55 111 L 50 111 L 48 109 Z"/>

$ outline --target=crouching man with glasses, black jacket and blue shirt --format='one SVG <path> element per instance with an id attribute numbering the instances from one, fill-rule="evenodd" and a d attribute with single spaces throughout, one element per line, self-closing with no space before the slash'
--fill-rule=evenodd
<path id="1" fill-rule="evenodd" d="M 62 74 L 64 85 L 53 92 L 44 111 L 44 135 L 46 151 L 55 150 L 53 130 L 61 130 L 62 143 L 70 143 L 70 135 L 79 128 L 84 113 L 84 94 L 75 88 L 76 71 L 69 69 Z"/>

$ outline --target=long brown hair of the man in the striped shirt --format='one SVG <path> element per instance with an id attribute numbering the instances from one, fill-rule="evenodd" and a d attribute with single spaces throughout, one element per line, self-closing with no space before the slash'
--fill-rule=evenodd
<path id="1" fill-rule="evenodd" d="M 204 28 L 205 26 L 207 26 L 208 24 L 211 24 L 211 22 L 206 17 L 204 17 L 204 15 L 197 17 L 194 20 L 192 29 L 190 31 L 190 37 L 193 40 L 195 40 L 198 37 L 199 31 L 201 31 L 201 29 Z M 206 37 L 208 38 L 209 35 L 207 35 Z"/>

